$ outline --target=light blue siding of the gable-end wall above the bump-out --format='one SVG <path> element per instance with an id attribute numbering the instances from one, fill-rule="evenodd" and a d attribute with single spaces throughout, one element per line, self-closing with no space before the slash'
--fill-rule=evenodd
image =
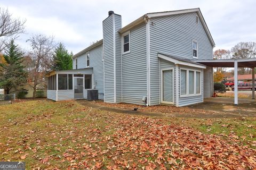
<path id="1" fill-rule="evenodd" d="M 192 41 L 198 43 L 198 59 L 212 59 L 213 47 L 197 13 L 150 19 L 150 105 L 159 104 L 159 61 L 157 53 L 193 60 Z M 184 99 L 185 100 L 185 99 Z M 199 100 L 191 100 L 194 103 Z M 201 100 L 200 100 L 201 101 Z"/>

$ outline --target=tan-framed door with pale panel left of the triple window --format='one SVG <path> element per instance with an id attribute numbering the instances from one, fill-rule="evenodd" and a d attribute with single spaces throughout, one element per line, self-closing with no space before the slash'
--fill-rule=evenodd
<path id="1" fill-rule="evenodd" d="M 161 71 L 161 103 L 174 104 L 173 69 Z"/>

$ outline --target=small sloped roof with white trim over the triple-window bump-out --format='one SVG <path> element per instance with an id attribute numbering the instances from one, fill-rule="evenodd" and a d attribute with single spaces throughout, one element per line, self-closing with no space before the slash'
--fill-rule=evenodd
<path id="1" fill-rule="evenodd" d="M 201 69 L 206 69 L 206 66 L 200 63 L 196 63 L 193 60 L 188 60 L 183 57 L 175 57 L 169 54 L 162 54 L 162 53 L 157 53 L 157 56 L 159 58 L 162 58 L 166 61 L 172 62 L 174 64 L 180 64 L 180 65 L 186 65 L 186 66 L 191 66 L 191 67 L 197 67 Z"/>

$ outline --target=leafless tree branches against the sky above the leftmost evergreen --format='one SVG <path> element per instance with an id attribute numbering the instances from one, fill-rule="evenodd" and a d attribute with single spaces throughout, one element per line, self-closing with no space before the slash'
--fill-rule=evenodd
<path id="1" fill-rule="evenodd" d="M 0 52 L 6 47 L 9 38 L 15 39 L 20 33 L 24 33 L 26 20 L 12 18 L 8 9 L 0 7 Z"/>

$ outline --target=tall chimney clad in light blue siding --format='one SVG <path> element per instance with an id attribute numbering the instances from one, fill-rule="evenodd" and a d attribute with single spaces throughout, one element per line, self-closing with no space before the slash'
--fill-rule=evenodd
<path id="1" fill-rule="evenodd" d="M 103 21 L 104 101 L 108 103 L 120 103 L 122 101 L 121 37 L 118 33 L 121 27 L 120 15 L 112 14 Z"/>

